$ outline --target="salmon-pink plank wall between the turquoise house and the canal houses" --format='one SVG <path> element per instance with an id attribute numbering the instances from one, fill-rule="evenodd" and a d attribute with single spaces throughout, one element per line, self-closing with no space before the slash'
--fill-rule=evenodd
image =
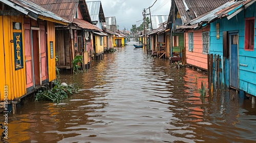
<path id="1" fill-rule="evenodd" d="M 186 63 L 207 70 L 207 54 L 203 54 L 202 32 L 210 31 L 209 27 L 201 30 L 189 30 L 185 33 L 186 41 Z M 188 51 L 188 33 L 193 32 L 194 49 L 193 52 Z"/>

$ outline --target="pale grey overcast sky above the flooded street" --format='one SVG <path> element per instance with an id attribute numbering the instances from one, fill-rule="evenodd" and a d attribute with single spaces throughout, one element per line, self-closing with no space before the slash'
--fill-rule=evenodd
<path id="1" fill-rule="evenodd" d="M 87 0 L 99 1 L 99 0 Z M 154 4 L 156 0 L 101 0 L 105 17 L 115 16 L 119 29 L 131 29 L 132 25 L 137 27 L 143 22 L 143 9 Z M 151 8 L 151 15 L 169 15 L 171 0 L 157 0 Z M 147 13 L 149 11 L 147 10 Z M 138 22 L 137 22 L 138 21 Z"/>

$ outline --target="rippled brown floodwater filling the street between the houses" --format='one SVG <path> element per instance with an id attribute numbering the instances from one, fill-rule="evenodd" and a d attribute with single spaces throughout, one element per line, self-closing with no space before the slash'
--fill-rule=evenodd
<path id="1" fill-rule="evenodd" d="M 254 142 L 256 110 L 236 91 L 200 99 L 207 75 L 177 69 L 128 42 L 82 74 L 60 104 L 27 101 L 9 114 L 9 142 Z M 208 86 L 207 86 L 208 87 Z M 233 96 L 234 95 L 234 96 Z M 4 117 L 0 118 L 4 122 Z"/>

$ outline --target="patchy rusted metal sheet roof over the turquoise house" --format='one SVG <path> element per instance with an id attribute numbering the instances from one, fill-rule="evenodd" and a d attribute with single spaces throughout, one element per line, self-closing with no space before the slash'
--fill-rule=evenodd
<path id="1" fill-rule="evenodd" d="M 206 26 L 208 23 L 218 18 L 227 17 L 228 19 L 237 15 L 239 12 L 254 4 L 256 0 L 244 0 L 244 1 L 229 1 L 214 10 L 211 10 L 190 22 L 185 23 L 184 26 L 180 26 L 177 29 L 196 29 Z"/>

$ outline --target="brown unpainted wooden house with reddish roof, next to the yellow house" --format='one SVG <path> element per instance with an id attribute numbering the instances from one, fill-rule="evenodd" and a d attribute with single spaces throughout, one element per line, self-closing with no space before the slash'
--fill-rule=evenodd
<path id="1" fill-rule="evenodd" d="M 83 56 L 82 66 L 89 68 L 94 58 L 93 33 L 102 31 L 92 25 L 86 1 L 68 0 L 52 3 L 51 0 L 32 0 L 38 5 L 66 18 L 69 26 L 55 26 L 56 38 L 56 66 L 58 68 L 72 68 L 72 61 L 77 56 Z M 67 7 L 69 5 L 69 7 Z"/>

